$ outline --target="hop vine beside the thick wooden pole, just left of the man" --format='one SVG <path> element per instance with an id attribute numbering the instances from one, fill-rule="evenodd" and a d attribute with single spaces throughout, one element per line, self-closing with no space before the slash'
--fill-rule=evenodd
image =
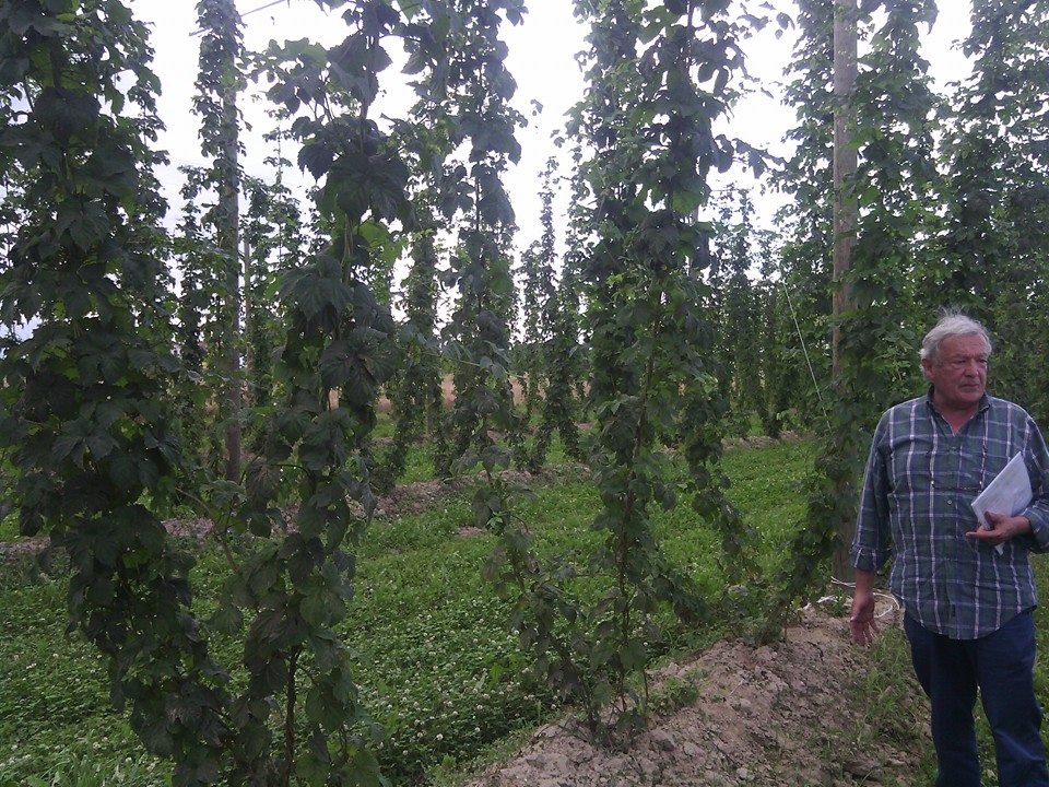
<path id="1" fill-rule="evenodd" d="M 778 634 L 794 599 L 821 584 L 820 567 L 841 545 L 842 533 L 851 532 L 877 416 L 917 388 L 911 349 L 921 318 L 915 280 L 901 271 L 928 269 L 935 98 L 928 64 L 918 54 L 918 28 L 934 15 L 931 2 L 887 4 L 850 97 L 860 153 L 856 177 L 847 185 L 860 208 L 846 280 L 853 306 L 841 316 L 841 374 L 816 462 L 809 524 L 795 535 L 775 580 L 766 637 Z"/>

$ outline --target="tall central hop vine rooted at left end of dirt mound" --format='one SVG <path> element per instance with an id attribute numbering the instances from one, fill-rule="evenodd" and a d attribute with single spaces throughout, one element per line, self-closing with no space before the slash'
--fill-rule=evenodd
<path id="1" fill-rule="evenodd" d="M 683 485 L 719 526 L 726 568 L 733 576 L 745 568 L 739 560 L 745 528 L 711 472 L 721 410 L 704 355 L 711 336 L 696 310 L 693 265 L 703 234 L 693 215 L 709 195 L 707 172 L 732 156 L 711 124 L 724 108 L 720 94 L 735 62 L 731 25 L 717 3 L 646 9 L 610 0 L 580 2 L 576 11 L 591 26 L 591 89 L 569 132 L 592 151 L 580 184 L 599 239 L 582 280 L 597 415 L 590 463 L 602 501 L 594 528 L 604 538 L 586 566 L 568 557 L 539 564 L 510 543 L 502 578 L 519 588 L 515 622 L 539 668 L 581 702 L 592 731 L 608 733 L 602 710 L 613 701 L 615 729 L 644 718 L 646 666 L 661 641 L 659 606 L 688 620 L 704 610 L 652 531 L 650 507 L 677 502 L 664 444 L 684 446 L 692 472 Z M 709 36 L 703 48 L 700 30 Z M 715 93 L 698 87 L 711 79 Z M 596 600 L 578 595 L 579 577 L 599 580 Z"/>

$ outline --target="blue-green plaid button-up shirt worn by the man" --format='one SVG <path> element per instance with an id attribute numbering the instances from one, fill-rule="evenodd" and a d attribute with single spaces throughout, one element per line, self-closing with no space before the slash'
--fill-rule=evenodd
<path id="1" fill-rule="evenodd" d="M 1017 453 L 1035 498 L 1032 532 L 1002 554 L 967 539 L 970 503 Z M 1045 496 L 1042 496 L 1045 495 Z M 877 571 L 895 553 L 889 588 L 929 631 L 953 639 L 990 634 L 1037 602 L 1029 552 L 1049 551 L 1049 451 L 1022 408 L 985 396 L 953 434 L 928 396 L 889 409 L 877 424 L 852 542 L 852 565 Z"/>

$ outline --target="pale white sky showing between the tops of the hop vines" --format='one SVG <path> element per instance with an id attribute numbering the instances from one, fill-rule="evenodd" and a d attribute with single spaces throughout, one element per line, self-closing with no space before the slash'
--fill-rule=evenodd
<path id="1" fill-rule="evenodd" d="M 518 132 L 522 146 L 521 161 L 510 168 L 506 178 L 520 226 L 517 238 L 519 249 L 527 248 L 541 232 L 539 173 L 551 155 L 558 155 L 566 162 L 566 152 L 558 151 L 552 140 L 564 122 L 565 111 L 578 101 L 585 87 L 575 60 L 576 52 L 585 48 L 585 31 L 573 16 L 570 0 L 530 0 L 527 4 L 529 11 L 524 22 L 517 27 L 507 25 L 504 34 L 509 47 L 507 66 L 518 83 L 514 105 L 529 119 L 529 126 Z M 785 7 L 788 12 L 792 5 L 783 0 L 777 0 L 777 4 Z M 167 127 L 158 145 L 168 151 L 172 160 L 172 166 L 158 175 L 173 205 L 169 221 L 174 223 L 180 204 L 178 189 L 181 176 L 177 167 L 207 163 L 200 154 L 198 119 L 191 114 L 200 46 L 200 37 L 193 35 L 197 28 L 196 2 L 132 0 L 131 5 L 139 19 L 151 24 L 153 32 L 154 70 L 162 83 L 158 113 Z M 956 48 L 952 48 L 953 42 L 967 33 L 968 2 L 941 0 L 940 5 L 936 24 L 924 36 L 924 55 L 930 61 L 930 74 L 942 86 L 968 70 L 965 58 Z M 249 50 L 263 49 L 271 39 L 309 38 L 330 46 L 346 35 L 346 27 L 339 14 L 326 13 L 313 0 L 282 0 L 276 4 L 272 0 L 238 0 L 237 8 L 245 22 L 245 46 Z M 783 134 L 793 125 L 793 117 L 779 103 L 778 94 L 793 37 L 788 32 L 777 38 L 775 27 L 769 25 L 744 43 L 747 70 L 771 95 L 755 93 L 744 99 L 719 130 L 756 146 L 786 154 L 789 149 L 783 143 Z M 405 84 L 406 79 L 391 68 L 380 81 L 386 95 L 379 110 L 391 116 L 403 114 L 413 101 L 411 90 Z M 249 175 L 272 181 L 273 172 L 262 164 L 262 160 L 274 151 L 262 142 L 262 134 L 272 130 L 273 124 L 266 116 L 263 103 L 258 101 L 258 95 L 251 97 L 251 92 L 252 89 L 249 89 L 249 97 L 241 102 L 244 118 L 251 126 L 251 131 L 244 136 L 247 152 L 243 165 Z M 257 93 L 257 89 L 254 92 Z M 532 102 L 543 105 L 543 111 L 538 116 L 533 113 Z M 284 155 L 294 162 L 293 151 L 285 150 Z M 568 174 L 567 166 L 563 174 Z M 286 172 L 285 179 L 300 184 L 309 180 L 308 176 L 297 172 Z M 730 181 L 753 185 L 739 172 L 730 172 L 728 178 L 722 177 L 714 185 L 718 188 Z M 566 192 L 559 195 L 555 212 L 563 214 L 567 199 Z M 756 202 L 765 222 L 770 222 L 773 210 L 779 204 L 778 197 L 766 195 L 758 197 Z"/>

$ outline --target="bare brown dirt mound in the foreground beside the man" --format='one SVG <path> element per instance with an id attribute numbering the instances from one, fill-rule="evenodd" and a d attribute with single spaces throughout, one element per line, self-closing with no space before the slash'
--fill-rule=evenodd
<path id="1" fill-rule="evenodd" d="M 550 725 L 470 787 L 910 784 L 912 752 L 876 740 L 849 750 L 833 732 L 856 725 L 846 686 L 867 659 L 845 620 L 808 610 L 781 643 L 722 642 L 664 670 L 658 694 L 685 701 L 628 748 L 596 747 L 571 723 Z"/>

